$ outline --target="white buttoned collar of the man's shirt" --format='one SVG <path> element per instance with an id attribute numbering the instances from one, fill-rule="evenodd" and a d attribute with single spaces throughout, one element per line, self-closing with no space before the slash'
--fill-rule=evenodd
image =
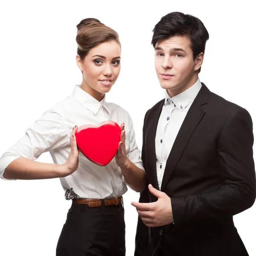
<path id="1" fill-rule="evenodd" d="M 180 111 L 183 111 L 183 109 L 186 108 L 186 106 L 189 105 L 189 103 L 195 99 L 195 97 L 197 96 L 201 87 L 202 87 L 202 84 L 198 78 L 196 83 L 193 84 L 191 87 L 189 87 L 189 89 L 183 91 L 180 94 L 177 94 L 176 96 L 174 96 L 172 98 L 169 96 L 169 94 L 166 90 L 165 91 L 165 105 L 167 104 L 168 101 L 169 101 L 169 103 L 171 103 L 171 101 L 172 101 Z M 171 100 L 169 100 L 169 99 L 171 99 Z"/>

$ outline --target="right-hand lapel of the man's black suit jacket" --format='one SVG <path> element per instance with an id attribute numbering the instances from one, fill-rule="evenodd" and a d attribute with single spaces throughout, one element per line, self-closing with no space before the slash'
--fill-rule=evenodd
<path id="1" fill-rule="evenodd" d="M 190 137 L 204 116 L 205 112 L 201 108 L 201 105 L 208 102 L 209 93 L 210 91 L 208 88 L 202 83 L 201 90 L 199 91 L 198 96 L 195 98 L 194 102 L 189 108 L 188 113 L 186 114 L 186 117 L 180 127 L 180 131 L 177 134 L 175 142 L 172 146 L 172 150 L 167 159 L 166 168 L 163 174 L 161 191 L 165 189 L 165 186 L 172 176 L 172 173 L 175 170 L 175 167 L 180 160 L 180 157 L 182 156 Z"/>

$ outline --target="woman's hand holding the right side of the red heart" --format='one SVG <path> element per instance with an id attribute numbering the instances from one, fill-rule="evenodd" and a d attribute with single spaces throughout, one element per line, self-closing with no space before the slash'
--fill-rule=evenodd
<path id="1" fill-rule="evenodd" d="M 122 123 L 121 126 L 121 141 L 118 144 L 118 150 L 116 152 L 116 164 L 122 168 L 128 165 L 129 159 L 126 154 L 125 149 L 125 123 Z"/>

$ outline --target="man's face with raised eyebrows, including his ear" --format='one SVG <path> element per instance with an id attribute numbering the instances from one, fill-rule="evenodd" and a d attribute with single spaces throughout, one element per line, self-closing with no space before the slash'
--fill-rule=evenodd
<path id="1" fill-rule="evenodd" d="M 187 90 L 197 81 L 197 70 L 203 59 L 203 53 L 193 59 L 190 40 L 186 36 L 160 39 L 155 47 L 155 69 L 161 87 L 171 97 Z"/>

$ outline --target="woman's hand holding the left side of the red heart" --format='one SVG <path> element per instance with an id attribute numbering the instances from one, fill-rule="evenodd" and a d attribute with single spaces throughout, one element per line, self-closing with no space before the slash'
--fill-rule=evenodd
<path id="1" fill-rule="evenodd" d="M 66 163 L 64 163 L 61 167 L 61 173 L 63 174 L 62 177 L 66 177 L 70 174 L 72 174 L 73 172 L 76 171 L 76 169 L 78 168 L 78 163 L 79 163 L 79 150 L 77 148 L 76 145 L 76 130 L 77 130 L 77 125 L 73 128 L 73 131 L 70 135 L 70 145 L 71 145 L 71 151 L 70 154 L 67 158 Z"/>

